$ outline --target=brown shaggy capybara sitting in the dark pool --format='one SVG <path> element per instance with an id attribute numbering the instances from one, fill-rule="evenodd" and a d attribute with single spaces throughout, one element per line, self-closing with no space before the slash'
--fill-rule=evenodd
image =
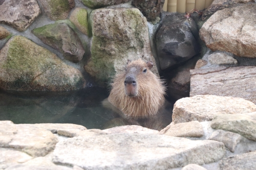
<path id="1" fill-rule="evenodd" d="M 108 100 L 127 117 L 155 115 L 164 104 L 165 87 L 152 67 L 151 61 L 128 61 L 125 70 L 115 76 Z"/>

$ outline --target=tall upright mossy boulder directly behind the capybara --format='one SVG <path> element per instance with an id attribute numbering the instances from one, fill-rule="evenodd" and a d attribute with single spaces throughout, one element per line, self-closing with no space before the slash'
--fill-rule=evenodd
<path id="1" fill-rule="evenodd" d="M 155 65 L 147 21 L 138 9 L 97 9 L 90 16 L 92 57 L 84 68 L 92 77 L 108 82 L 115 72 L 124 69 L 128 59 L 141 58 Z M 156 66 L 152 70 L 158 74 Z"/>

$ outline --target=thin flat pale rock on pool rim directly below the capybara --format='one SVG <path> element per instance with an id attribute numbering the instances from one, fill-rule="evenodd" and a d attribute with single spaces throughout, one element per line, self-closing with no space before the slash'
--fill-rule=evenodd
<path id="1" fill-rule="evenodd" d="M 136 133 L 136 134 L 156 134 L 156 135 L 159 134 L 159 131 L 157 130 L 143 128 L 137 125 L 114 127 L 114 128 L 102 130 L 102 132 L 105 132 L 107 134 L 114 134 L 114 133 Z"/>

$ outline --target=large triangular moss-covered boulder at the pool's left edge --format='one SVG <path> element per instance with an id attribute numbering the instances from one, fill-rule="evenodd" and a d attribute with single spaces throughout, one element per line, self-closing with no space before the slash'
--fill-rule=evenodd
<path id="1" fill-rule="evenodd" d="M 25 37 L 12 37 L 0 51 L 2 89 L 66 91 L 84 86 L 78 69 Z"/>

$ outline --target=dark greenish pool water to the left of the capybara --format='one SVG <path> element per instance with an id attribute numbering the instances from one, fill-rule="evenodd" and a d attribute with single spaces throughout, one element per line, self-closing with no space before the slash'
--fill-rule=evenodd
<path id="1" fill-rule="evenodd" d="M 107 97 L 108 91 L 99 87 L 68 92 L 0 91 L 0 120 L 15 124 L 70 123 L 103 129 L 114 118 L 101 106 Z"/>

